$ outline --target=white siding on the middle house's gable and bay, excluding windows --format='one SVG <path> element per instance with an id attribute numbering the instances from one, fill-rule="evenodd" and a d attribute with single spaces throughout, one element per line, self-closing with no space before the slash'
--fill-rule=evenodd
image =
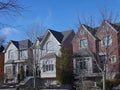
<path id="1" fill-rule="evenodd" d="M 51 42 L 50 44 L 48 44 Z M 49 48 L 47 48 L 46 46 Z M 51 45 L 52 44 L 52 45 Z M 48 53 L 55 53 L 56 55 L 60 55 L 60 43 L 56 40 L 56 38 L 50 33 L 49 37 L 45 41 L 45 44 L 43 46 L 42 50 L 42 56 L 45 56 Z M 48 52 L 47 49 L 54 49 L 53 52 Z M 54 71 L 48 71 L 48 72 L 43 72 L 43 69 L 41 69 L 41 78 L 55 78 L 56 77 L 56 58 L 50 58 L 50 59 L 44 59 L 44 60 L 52 60 L 54 62 Z M 41 64 L 43 65 L 43 60 L 41 60 Z M 40 66 L 42 68 L 42 65 Z"/>

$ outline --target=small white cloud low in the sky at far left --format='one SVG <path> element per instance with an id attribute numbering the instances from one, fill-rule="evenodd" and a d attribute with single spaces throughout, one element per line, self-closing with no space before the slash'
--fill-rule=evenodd
<path id="1" fill-rule="evenodd" d="M 18 33 L 18 30 L 15 28 L 5 27 L 0 30 L 0 33 L 2 33 L 3 36 L 7 36 L 13 33 Z"/>

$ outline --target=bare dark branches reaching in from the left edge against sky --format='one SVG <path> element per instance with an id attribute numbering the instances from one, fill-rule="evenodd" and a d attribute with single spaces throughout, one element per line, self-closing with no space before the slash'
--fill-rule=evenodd
<path id="1" fill-rule="evenodd" d="M 15 15 L 22 15 L 25 10 L 24 5 L 22 5 L 19 0 L 0 0 L 0 17 L 5 18 L 6 16 L 12 18 Z M 8 24 L 0 21 L 1 26 L 8 26 Z M 5 37 L 0 36 L 0 45 L 5 42 Z"/>

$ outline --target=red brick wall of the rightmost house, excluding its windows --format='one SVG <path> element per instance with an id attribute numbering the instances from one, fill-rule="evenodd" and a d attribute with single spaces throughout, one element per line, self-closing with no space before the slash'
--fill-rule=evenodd
<path id="1" fill-rule="evenodd" d="M 107 25 L 109 27 L 108 32 L 106 33 L 104 31 L 104 26 Z M 117 72 L 119 71 L 119 58 L 118 58 L 118 35 L 117 32 L 112 28 L 108 23 L 103 23 L 99 29 L 99 32 L 97 33 L 97 37 L 102 40 L 102 37 L 105 35 L 112 35 L 112 44 L 107 46 L 107 53 L 109 56 L 109 61 L 108 61 L 108 72 Z M 99 42 L 99 53 L 105 53 L 105 46 L 102 45 L 102 42 Z M 117 62 L 115 65 L 111 64 L 111 56 L 116 55 Z"/>

